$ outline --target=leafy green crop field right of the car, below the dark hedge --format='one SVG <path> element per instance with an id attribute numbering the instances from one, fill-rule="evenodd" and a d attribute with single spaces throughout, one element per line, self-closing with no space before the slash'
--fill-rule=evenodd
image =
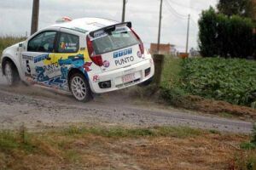
<path id="1" fill-rule="evenodd" d="M 256 61 L 246 59 L 169 59 L 162 88 L 236 105 L 251 105 L 256 92 Z M 170 91 L 171 89 L 171 91 Z M 167 91 L 168 93 L 168 91 Z"/>

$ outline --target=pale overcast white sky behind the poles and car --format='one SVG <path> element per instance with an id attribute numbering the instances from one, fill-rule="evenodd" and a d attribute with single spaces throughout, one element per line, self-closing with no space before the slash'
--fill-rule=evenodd
<path id="1" fill-rule="evenodd" d="M 183 51 L 187 22 L 179 14 L 191 14 L 189 48 L 197 48 L 197 20 L 201 10 L 216 6 L 218 0 L 163 0 L 161 42 L 172 43 Z M 73 19 L 103 17 L 121 20 L 123 0 L 40 0 L 39 28 L 55 23 L 62 16 Z M 170 4 L 170 6 L 168 5 Z M 178 14 L 173 12 L 173 9 Z M 128 0 L 125 20 L 131 21 L 148 48 L 157 42 L 160 0 Z M 30 32 L 32 0 L 0 0 L 0 35 L 26 35 Z"/>

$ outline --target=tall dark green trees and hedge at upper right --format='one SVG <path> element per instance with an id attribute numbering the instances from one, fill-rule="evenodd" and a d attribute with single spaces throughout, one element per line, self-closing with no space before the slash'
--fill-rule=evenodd
<path id="1" fill-rule="evenodd" d="M 252 0 L 230 1 L 220 0 L 217 9 L 202 11 L 198 22 L 201 55 L 256 59 L 256 4 Z"/>

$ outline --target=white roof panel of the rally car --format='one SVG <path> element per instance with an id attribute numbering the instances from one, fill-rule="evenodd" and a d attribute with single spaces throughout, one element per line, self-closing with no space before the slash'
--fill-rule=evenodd
<path id="1" fill-rule="evenodd" d="M 57 23 L 49 27 L 61 27 L 80 32 L 96 31 L 105 26 L 117 24 L 118 21 L 103 18 L 81 18 L 72 21 Z"/>

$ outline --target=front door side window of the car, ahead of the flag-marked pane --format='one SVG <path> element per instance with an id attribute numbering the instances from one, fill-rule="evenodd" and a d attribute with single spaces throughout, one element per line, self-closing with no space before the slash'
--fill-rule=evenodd
<path id="1" fill-rule="evenodd" d="M 27 46 L 27 51 L 51 53 L 54 50 L 56 31 L 45 31 L 33 37 Z"/>

